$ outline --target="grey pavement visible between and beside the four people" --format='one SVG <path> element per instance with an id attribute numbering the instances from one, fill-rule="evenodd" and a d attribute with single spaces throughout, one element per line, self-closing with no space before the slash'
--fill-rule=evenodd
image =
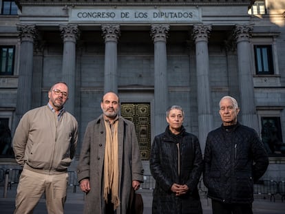
<path id="1" fill-rule="evenodd" d="M 14 211 L 14 198 L 16 195 L 17 186 L 12 186 L 12 189 L 8 189 L 7 197 L 3 197 L 3 186 L 0 186 L 0 213 L 12 214 Z M 152 190 L 140 189 L 137 191 L 142 195 L 144 202 L 143 214 L 151 214 L 152 203 Z M 211 214 L 211 200 L 204 196 L 204 193 L 200 193 L 201 202 L 204 214 Z M 67 201 L 65 202 L 66 214 L 81 214 L 83 213 L 84 206 L 84 194 L 77 187 L 76 193 L 74 193 L 74 186 L 69 186 L 67 190 Z M 254 214 L 284 214 L 285 213 L 285 200 L 282 202 L 280 195 L 275 195 L 275 202 L 270 195 L 255 195 L 255 201 L 253 202 Z M 45 198 L 41 198 L 39 204 L 34 209 L 34 214 L 47 214 L 45 208 Z M 94 213 L 96 214 L 96 213 Z M 176 214 L 176 213 L 173 213 Z"/>

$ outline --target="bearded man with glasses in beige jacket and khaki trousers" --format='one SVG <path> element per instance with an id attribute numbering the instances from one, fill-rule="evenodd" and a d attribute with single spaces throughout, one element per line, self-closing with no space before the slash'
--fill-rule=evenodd
<path id="1" fill-rule="evenodd" d="M 23 115 L 12 141 L 17 162 L 23 167 L 16 196 L 17 213 L 32 213 L 45 193 L 47 212 L 63 213 L 68 173 L 77 145 L 78 122 L 63 105 L 66 83 L 48 92 L 47 105 Z"/>

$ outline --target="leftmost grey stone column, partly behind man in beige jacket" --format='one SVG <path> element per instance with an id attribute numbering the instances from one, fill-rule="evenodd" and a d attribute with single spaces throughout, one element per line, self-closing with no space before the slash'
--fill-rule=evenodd
<path id="1" fill-rule="evenodd" d="M 18 79 L 18 94 L 15 124 L 17 125 L 23 114 L 32 107 L 32 70 L 34 39 L 37 36 L 35 25 L 17 25 L 21 39 L 20 69 Z"/>

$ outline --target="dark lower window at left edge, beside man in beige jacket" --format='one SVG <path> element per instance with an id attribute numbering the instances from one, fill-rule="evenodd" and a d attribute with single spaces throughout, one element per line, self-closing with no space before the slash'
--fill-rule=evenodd
<path id="1" fill-rule="evenodd" d="M 0 157 L 12 158 L 12 136 L 9 128 L 9 118 L 0 118 Z"/>

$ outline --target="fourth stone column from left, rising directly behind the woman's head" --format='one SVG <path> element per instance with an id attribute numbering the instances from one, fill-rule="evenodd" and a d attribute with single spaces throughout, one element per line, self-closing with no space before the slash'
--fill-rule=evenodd
<path id="1" fill-rule="evenodd" d="M 154 132 L 165 131 L 165 111 L 168 105 L 167 36 L 169 25 L 151 25 L 154 41 Z"/>

